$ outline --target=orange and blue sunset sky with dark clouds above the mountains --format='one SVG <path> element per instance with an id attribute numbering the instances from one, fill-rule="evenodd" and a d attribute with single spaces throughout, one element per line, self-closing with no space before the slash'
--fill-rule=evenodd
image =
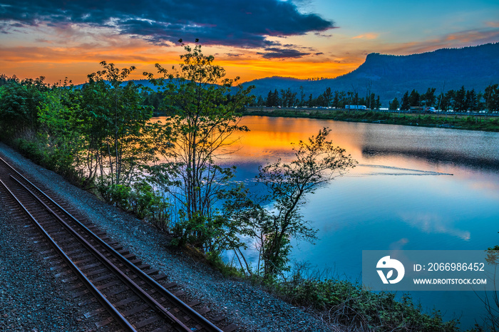
<path id="1" fill-rule="evenodd" d="M 107 61 L 131 78 L 180 63 L 178 42 L 227 78 L 334 78 L 369 53 L 499 42 L 497 0 L 0 0 L 0 74 L 79 84 Z"/>

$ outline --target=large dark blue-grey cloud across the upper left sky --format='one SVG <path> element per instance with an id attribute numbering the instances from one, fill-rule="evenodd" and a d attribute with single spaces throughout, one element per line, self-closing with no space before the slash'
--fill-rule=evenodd
<path id="1" fill-rule="evenodd" d="M 279 45 L 267 36 L 334 28 L 332 21 L 302 14 L 292 2 L 278 0 L 0 0 L 4 31 L 13 23 L 108 26 L 155 44 L 199 38 L 206 45 L 259 48 Z"/>

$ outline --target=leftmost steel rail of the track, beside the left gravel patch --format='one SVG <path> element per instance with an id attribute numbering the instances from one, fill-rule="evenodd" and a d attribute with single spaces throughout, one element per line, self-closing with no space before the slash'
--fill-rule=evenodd
<path id="1" fill-rule="evenodd" d="M 58 244 L 52 239 L 50 234 L 46 232 L 46 230 L 41 226 L 41 224 L 36 220 L 36 218 L 24 207 L 24 205 L 19 201 L 19 199 L 16 197 L 14 192 L 12 192 L 9 187 L 6 186 L 6 184 L 0 180 L 1 185 L 5 188 L 5 190 L 10 194 L 10 196 L 19 204 L 19 207 L 23 210 L 23 212 L 31 219 L 32 222 L 34 222 L 36 228 L 43 234 L 43 237 L 45 237 L 48 240 L 48 243 L 53 247 L 53 249 L 56 250 L 56 252 L 63 258 L 63 260 L 68 264 L 68 266 L 73 270 L 73 272 L 78 276 L 78 279 L 80 279 L 85 286 L 92 292 L 93 296 L 96 297 L 96 299 L 101 302 L 104 308 L 110 313 L 113 318 L 120 324 L 121 327 L 125 328 L 126 331 L 133 331 L 136 332 L 135 327 L 130 324 L 130 322 L 127 321 L 123 315 L 116 310 L 115 306 L 110 303 L 108 299 L 106 299 L 106 296 L 99 291 L 94 284 L 83 274 L 83 272 L 78 269 L 78 266 L 73 263 L 73 261 L 66 255 L 66 253 L 63 251 L 61 247 L 58 246 Z"/>

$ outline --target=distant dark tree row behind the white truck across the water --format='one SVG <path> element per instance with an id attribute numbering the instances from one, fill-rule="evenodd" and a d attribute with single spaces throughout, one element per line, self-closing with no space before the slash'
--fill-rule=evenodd
<path id="1" fill-rule="evenodd" d="M 376 109 L 381 107 L 379 95 L 367 93 L 363 97 L 359 97 L 356 91 L 332 91 L 331 88 L 326 88 L 324 93 L 321 93 L 314 98 L 312 94 L 305 95 L 303 86 L 297 92 L 292 92 L 291 88 L 278 91 L 269 90 L 267 98 L 262 98 L 260 95 L 256 100 L 253 100 L 252 106 L 267 106 L 267 107 L 333 107 L 344 108 L 345 105 L 365 105 L 367 108 Z"/>

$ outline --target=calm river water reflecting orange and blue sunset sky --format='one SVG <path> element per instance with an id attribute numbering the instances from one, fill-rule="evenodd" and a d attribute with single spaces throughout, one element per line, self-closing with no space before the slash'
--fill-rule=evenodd
<path id="1" fill-rule="evenodd" d="M 237 165 L 251 185 L 257 167 L 291 160 L 290 142 L 329 127 L 330 139 L 359 161 L 307 197 L 302 212 L 317 244 L 295 244 L 292 258 L 361 278 L 362 250 L 486 249 L 499 244 L 499 134 L 441 128 L 245 117 L 251 130 L 220 163 Z M 249 253 L 250 258 L 255 256 Z M 463 327 L 481 321 L 473 292 L 413 292 Z"/>

